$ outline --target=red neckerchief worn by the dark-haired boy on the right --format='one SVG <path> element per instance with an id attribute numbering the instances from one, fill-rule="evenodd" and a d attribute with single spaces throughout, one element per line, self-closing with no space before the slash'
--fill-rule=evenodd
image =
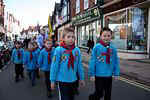
<path id="1" fill-rule="evenodd" d="M 111 49 L 109 48 L 109 44 L 106 44 L 104 41 L 100 40 L 100 44 L 107 48 L 106 53 L 102 53 L 103 56 L 106 56 L 106 63 L 110 64 L 110 53 Z"/>

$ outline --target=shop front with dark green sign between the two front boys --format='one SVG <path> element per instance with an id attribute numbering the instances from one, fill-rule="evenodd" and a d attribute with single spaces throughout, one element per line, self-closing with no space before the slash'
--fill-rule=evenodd
<path id="1" fill-rule="evenodd" d="M 96 6 L 72 18 L 72 24 L 75 27 L 77 37 L 76 44 L 79 47 L 87 48 L 87 41 L 89 39 L 93 39 L 96 43 L 101 27 L 99 19 L 99 9 Z"/>

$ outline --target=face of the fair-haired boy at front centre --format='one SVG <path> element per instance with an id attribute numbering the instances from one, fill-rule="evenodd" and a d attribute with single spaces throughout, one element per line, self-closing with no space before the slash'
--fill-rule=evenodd
<path id="1" fill-rule="evenodd" d="M 75 36 L 73 32 L 69 32 L 64 37 L 64 42 L 66 45 L 73 45 L 75 42 Z"/>

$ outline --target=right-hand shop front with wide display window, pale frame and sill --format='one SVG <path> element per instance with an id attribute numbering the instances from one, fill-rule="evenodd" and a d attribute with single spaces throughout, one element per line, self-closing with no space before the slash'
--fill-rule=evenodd
<path id="1" fill-rule="evenodd" d="M 119 56 L 143 59 L 149 56 L 149 7 L 132 6 L 104 15 L 105 26 L 113 31 L 112 42 Z"/>

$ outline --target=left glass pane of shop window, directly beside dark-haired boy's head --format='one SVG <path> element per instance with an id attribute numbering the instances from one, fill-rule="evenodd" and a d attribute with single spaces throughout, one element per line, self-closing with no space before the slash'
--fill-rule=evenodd
<path id="1" fill-rule="evenodd" d="M 107 18 L 109 19 L 108 27 L 113 31 L 112 42 L 118 49 L 125 50 L 127 41 L 126 10 L 113 13 Z"/>

